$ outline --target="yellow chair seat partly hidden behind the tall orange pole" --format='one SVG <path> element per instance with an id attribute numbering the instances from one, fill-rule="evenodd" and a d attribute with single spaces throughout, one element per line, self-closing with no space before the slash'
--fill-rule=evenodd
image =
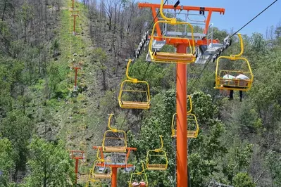
<path id="1" fill-rule="evenodd" d="M 176 124 L 176 113 L 173 115 L 172 120 L 172 137 L 177 137 L 177 130 L 175 129 Z M 197 138 L 199 134 L 199 124 L 194 114 L 187 113 L 187 138 Z"/>

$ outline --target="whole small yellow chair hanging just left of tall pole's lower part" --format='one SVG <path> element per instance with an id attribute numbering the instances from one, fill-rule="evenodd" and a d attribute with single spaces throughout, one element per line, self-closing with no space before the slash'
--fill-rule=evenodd
<path id="1" fill-rule="evenodd" d="M 168 157 L 163 150 L 163 138 L 160 136 L 161 148 L 149 150 L 146 154 L 146 169 L 166 170 L 168 167 Z"/>

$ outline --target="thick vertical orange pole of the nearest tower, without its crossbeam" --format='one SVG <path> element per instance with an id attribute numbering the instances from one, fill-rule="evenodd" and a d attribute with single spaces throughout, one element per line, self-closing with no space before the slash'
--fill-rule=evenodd
<path id="1" fill-rule="evenodd" d="M 177 53 L 187 53 L 185 44 Z M 177 64 L 177 186 L 187 187 L 187 65 Z"/>

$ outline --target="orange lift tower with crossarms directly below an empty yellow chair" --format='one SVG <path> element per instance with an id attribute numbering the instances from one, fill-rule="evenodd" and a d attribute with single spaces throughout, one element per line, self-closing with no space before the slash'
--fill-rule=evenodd
<path id="1" fill-rule="evenodd" d="M 99 150 L 99 152 L 101 153 L 101 160 L 105 160 L 102 146 L 94 146 L 93 148 L 96 150 Z M 137 148 L 126 148 L 126 150 L 127 150 L 127 153 L 125 156 L 125 162 L 118 163 L 118 162 L 115 162 L 114 160 L 111 162 L 106 162 L 106 160 L 105 160 L 104 163 L 99 163 L 97 165 L 99 167 L 111 167 L 111 169 L 112 169 L 111 187 L 117 187 L 117 169 L 118 168 L 127 169 L 127 168 L 134 167 L 133 165 L 128 165 L 127 160 L 129 159 L 130 151 L 137 150 Z"/>

